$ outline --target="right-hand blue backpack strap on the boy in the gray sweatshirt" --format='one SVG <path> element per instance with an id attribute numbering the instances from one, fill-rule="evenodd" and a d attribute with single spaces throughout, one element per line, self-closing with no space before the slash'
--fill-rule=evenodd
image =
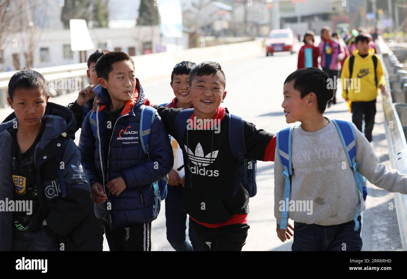
<path id="1" fill-rule="evenodd" d="M 346 157 L 348 158 L 349 165 L 352 166 L 353 176 L 356 181 L 356 185 L 361 193 L 361 199 L 359 201 L 359 207 L 356 214 L 353 217 L 355 222 L 354 230 L 359 230 L 359 221 L 357 217 L 360 215 L 360 211 L 362 208 L 362 200 L 363 200 L 363 185 L 365 185 L 365 179 L 359 172 L 357 171 L 357 163 L 356 163 L 356 136 L 354 134 L 354 130 L 352 124 L 348 121 L 343 120 L 332 120 L 335 124 L 339 137 L 341 138 L 342 145 L 345 149 Z"/>

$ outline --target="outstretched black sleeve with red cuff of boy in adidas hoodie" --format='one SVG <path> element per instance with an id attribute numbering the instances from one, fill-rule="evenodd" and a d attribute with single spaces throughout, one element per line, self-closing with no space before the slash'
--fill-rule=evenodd
<path id="1" fill-rule="evenodd" d="M 259 161 L 274 161 L 276 135 L 263 129 L 256 129 L 253 123 L 245 121 L 246 158 Z"/>

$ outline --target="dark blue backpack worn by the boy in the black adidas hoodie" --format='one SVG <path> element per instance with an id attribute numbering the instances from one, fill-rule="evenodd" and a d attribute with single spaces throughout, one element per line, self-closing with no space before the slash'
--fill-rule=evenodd
<path id="1" fill-rule="evenodd" d="M 194 112 L 193 108 L 182 110 L 175 118 L 175 129 L 178 137 L 179 145 L 183 146 L 182 140 L 187 127 L 187 121 L 191 118 Z M 246 146 L 244 138 L 244 121 L 239 116 L 229 115 L 229 143 L 232 149 L 234 158 L 239 160 L 239 178 L 236 182 L 233 196 L 236 195 L 237 189 L 242 182 L 243 187 L 252 198 L 257 193 L 256 185 L 256 168 L 257 161 L 246 159 Z"/>

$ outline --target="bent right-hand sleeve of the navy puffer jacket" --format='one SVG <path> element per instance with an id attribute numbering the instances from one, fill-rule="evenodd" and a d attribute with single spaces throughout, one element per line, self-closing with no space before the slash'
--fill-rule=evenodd
<path id="1" fill-rule="evenodd" d="M 168 132 L 158 115 L 155 116 L 153 125 L 151 125 L 149 157 L 149 161 L 123 171 L 122 177 L 127 188 L 150 185 L 151 182 L 163 178 L 173 168 L 173 149 L 168 138 Z"/>

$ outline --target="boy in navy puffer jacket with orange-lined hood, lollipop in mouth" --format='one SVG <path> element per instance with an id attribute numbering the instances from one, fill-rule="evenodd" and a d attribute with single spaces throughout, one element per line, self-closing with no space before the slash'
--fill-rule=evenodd
<path id="1" fill-rule="evenodd" d="M 161 201 L 152 183 L 174 163 L 168 133 L 155 113 L 144 153 L 139 132 L 144 95 L 126 53 L 107 53 L 95 68 L 100 85 L 94 92 L 110 102 L 86 116 L 79 140 L 95 213 L 105 221 L 111 251 L 151 250 L 151 221 Z"/>

